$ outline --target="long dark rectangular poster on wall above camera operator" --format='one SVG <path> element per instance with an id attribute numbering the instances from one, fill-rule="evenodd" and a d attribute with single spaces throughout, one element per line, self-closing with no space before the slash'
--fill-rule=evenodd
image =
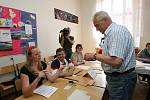
<path id="1" fill-rule="evenodd" d="M 55 19 L 72 22 L 78 24 L 78 16 L 71 13 L 54 8 Z"/>

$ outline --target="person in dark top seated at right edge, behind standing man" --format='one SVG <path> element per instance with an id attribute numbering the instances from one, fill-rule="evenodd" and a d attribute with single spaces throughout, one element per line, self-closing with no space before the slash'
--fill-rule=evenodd
<path id="1" fill-rule="evenodd" d="M 137 54 L 136 59 L 145 63 L 150 63 L 150 43 L 146 43 L 146 48 Z"/>

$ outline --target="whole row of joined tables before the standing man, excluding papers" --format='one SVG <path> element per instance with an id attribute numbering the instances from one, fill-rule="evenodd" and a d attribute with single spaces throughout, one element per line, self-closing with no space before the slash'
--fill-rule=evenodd
<path id="1" fill-rule="evenodd" d="M 85 66 L 90 67 L 99 67 L 99 73 L 97 74 L 97 77 L 95 78 L 95 84 L 93 86 L 82 86 L 82 85 L 72 85 L 71 89 L 64 90 L 64 87 L 67 85 L 71 85 L 69 83 L 70 79 L 74 80 L 82 80 L 84 77 L 74 77 L 71 76 L 70 79 L 67 78 L 58 78 L 55 83 L 45 82 L 45 85 L 50 85 L 58 88 L 58 90 L 49 98 L 45 98 L 43 96 L 33 94 L 33 96 L 29 98 L 24 98 L 23 96 L 20 96 L 16 98 L 15 100 L 67 100 L 67 97 L 71 95 L 71 93 L 76 90 L 83 90 L 88 92 L 88 95 L 91 97 L 90 100 L 101 100 L 103 93 L 105 91 L 106 87 L 106 80 L 105 80 L 105 74 L 101 69 L 101 65 L 98 63 L 88 62 L 86 61 Z"/>

